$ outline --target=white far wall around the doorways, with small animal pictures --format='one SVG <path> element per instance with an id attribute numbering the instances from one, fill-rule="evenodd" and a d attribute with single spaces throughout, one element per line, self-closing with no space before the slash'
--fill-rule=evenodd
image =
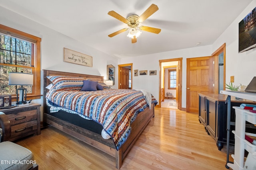
<path id="1" fill-rule="evenodd" d="M 148 90 L 159 101 L 159 60 L 182 58 L 182 107 L 186 107 L 186 59 L 193 57 L 210 56 L 212 54 L 211 49 L 212 47 L 210 45 L 207 45 L 202 47 L 168 51 L 138 57 L 128 57 L 119 59 L 118 64 L 133 63 L 133 70 L 157 70 L 156 76 L 133 76 L 132 88 Z"/>

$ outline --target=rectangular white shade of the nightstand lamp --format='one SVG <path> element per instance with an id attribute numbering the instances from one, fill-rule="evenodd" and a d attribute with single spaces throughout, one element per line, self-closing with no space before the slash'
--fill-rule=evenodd
<path id="1" fill-rule="evenodd" d="M 24 72 L 9 72 L 9 85 L 33 85 L 33 74 Z"/>

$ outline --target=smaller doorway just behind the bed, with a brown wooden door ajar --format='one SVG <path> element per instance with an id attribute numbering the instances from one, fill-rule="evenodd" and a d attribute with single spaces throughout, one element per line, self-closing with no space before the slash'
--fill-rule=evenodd
<path id="1" fill-rule="evenodd" d="M 132 63 L 118 65 L 118 88 L 132 89 Z"/>

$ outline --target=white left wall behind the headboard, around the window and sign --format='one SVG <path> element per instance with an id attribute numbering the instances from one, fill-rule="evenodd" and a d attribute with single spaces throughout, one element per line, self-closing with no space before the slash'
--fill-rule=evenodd
<path id="1" fill-rule="evenodd" d="M 101 51 L 84 45 L 66 35 L 58 33 L 53 29 L 45 27 L 28 18 L 20 16 L 6 8 L 0 6 L 0 23 L 14 29 L 40 37 L 41 41 L 41 70 L 58 70 L 65 72 L 75 72 L 82 74 L 92 74 L 104 76 L 106 79 L 107 65 L 112 64 L 118 67 L 118 59 Z M 92 67 L 78 64 L 66 63 L 63 61 L 63 47 L 92 56 Z M 117 76 L 116 76 L 117 77 Z M 41 94 L 43 94 L 43 76 L 41 71 Z M 113 86 L 117 88 L 117 85 Z M 43 97 L 33 100 L 34 103 L 43 104 Z M 42 107 L 41 107 L 41 113 Z M 42 114 L 41 114 L 42 120 Z"/>

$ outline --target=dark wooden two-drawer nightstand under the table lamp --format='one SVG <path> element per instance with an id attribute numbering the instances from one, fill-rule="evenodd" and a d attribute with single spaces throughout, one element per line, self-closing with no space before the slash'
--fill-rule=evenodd
<path id="1" fill-rule="evenodd" d="M 11 123 L 11 137 L 14 141 L 28 135 L 40 135 L 40 104 L 30 104 L 11 109 L 0 109 Z"/>

